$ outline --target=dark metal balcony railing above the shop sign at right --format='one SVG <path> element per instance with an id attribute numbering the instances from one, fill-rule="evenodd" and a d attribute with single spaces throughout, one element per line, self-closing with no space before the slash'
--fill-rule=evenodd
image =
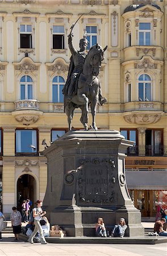
<path id="1" fill-rule="evenodd" d="M 133 147 L 129 147 L 127 149 L 127 155 L 166 156 L 167 155 L 167 147 L 151 146 L 151 145 L 133 146 Z"/>

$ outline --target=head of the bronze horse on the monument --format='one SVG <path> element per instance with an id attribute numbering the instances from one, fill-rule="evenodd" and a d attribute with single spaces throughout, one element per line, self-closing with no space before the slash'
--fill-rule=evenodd
<path id="1" fill-rule="evenodd" d="M 90 56 L 90 65 L 93 68 L 93 75 L 97 76 L 101 69 L 101 62 L 105 59 L 104 52 L 106 51 L 107 46 L 103 49 L 99 44 L 95 44 L 89 50 L 91 53 Z"/>

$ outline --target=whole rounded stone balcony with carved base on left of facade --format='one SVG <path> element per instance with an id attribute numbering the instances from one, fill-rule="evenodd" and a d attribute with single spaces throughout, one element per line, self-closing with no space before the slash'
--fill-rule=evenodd
<path id="1" fill-rule="evenodd" d="M 37 100 L 19 100 L 15 101 L 15 109 L 12 112 L 16 121 L 23 125 L 35 123 L 43 112 L 39 110 L 39 101 Z"/>

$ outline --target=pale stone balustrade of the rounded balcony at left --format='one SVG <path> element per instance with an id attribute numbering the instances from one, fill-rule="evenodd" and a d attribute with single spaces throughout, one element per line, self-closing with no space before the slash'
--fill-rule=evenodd
<path id="1" fill-rule="evenodd" d="M 39 110 L 39 101 L 37 100 L 19 100 L 15 101 L 15 110 Z"/>

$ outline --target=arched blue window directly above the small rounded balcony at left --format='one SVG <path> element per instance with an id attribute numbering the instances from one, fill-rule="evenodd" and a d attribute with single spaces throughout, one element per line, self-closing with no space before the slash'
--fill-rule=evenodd
<path id="1" fill-rule="evenodd" d="M 33 99 L 33 81 L 30 76 L 22 76 L 20 79 L 20 100 Z"/>

